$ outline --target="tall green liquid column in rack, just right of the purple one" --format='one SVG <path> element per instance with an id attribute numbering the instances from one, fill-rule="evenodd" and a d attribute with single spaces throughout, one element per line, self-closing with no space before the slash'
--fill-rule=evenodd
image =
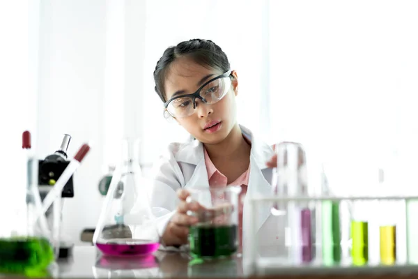
<path id="1" fill-rule="evenodd" d="M 323 218 L 323 263 L 325 265 L 341 262 L 341 229 L 339 202 L 325 201 L 322 204 Z"/>

